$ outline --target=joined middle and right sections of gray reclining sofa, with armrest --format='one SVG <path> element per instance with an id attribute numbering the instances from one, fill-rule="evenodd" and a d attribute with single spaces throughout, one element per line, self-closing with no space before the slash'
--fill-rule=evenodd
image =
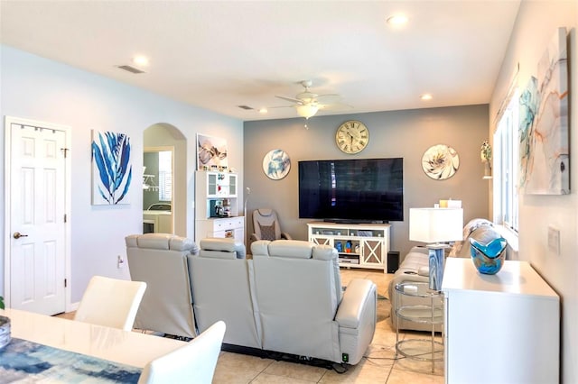
<path id="1" fill-rule="evenodd" d="M 199 332 L 222 319 L 223 343 L 338 363 L 361 360 L 376 329 L 376 285 L 352 279 L 343 292 L 333 247 L 262 240 L 253 242 L 248 260 L 205 250 L 224 242 L 203 239 L 199 256 L 189 256 Z"/>

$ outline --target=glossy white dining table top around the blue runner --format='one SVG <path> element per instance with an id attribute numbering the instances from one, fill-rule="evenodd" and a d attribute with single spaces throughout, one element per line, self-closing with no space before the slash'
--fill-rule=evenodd
<path id="1" fill-rule="evenodd" d="M 10 318 L 12 337 L 138 368 L 186 344 L 12 308 L 0 310 L 0 315 Z"/>

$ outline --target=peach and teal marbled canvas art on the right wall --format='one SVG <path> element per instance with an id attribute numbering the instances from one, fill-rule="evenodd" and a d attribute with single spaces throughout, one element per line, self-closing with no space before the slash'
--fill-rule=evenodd
<path id="1" fill-rule="evenodd" d="M 566 29 L 558 28 L 520 94 L 520 180 L 526 194 L 570 193 Z"/>

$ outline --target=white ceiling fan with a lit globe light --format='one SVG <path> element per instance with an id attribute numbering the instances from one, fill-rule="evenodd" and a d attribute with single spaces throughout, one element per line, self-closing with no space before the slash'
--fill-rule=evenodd
<path id="1" fill-rule="evenodd" d="M 292 106 L 297 110 L 297 114 L 309 119 L 317 114 L 317 111 L 344 111 L 353 108 L 351 105 L 341 103 L 341 96 L 337 94 L 317 95 L 312 93 L 309 88 L 312 86 L 312 80 L 303 80 L 301 85 L 305 90 L 294 97 L 277 96 L 280 99 L 294 103 Z"/>

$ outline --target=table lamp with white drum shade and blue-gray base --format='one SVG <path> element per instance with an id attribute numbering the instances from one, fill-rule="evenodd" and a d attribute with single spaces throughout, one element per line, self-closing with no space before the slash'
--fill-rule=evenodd
<path id="1" fill-rule="evenodd" d="M 462 240 L 462 208 L 409 208 L 409 240 L 429 249 L 429 288 L 442 289 L 444 242 Z"/>

